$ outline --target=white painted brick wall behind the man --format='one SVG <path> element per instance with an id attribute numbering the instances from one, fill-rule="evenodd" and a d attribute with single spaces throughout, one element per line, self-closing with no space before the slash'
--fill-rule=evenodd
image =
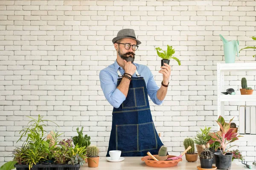
<path id="1" fill-rule="evenodd" d="M 216 65 L 224 62 L 218 35 L 239 40 L 240 49 L 256 45 L 250 39 L 256 36 L 255 10 L 254 0 L 0 0 L 0 165 L 22 144 L 16 141 L 26 116 L 38 114 L 55 121 L 60 127 L 49 122 L 46 130 L 60 130 L 63 138 L 84 126 L 105 156 L 112 106 L 100 88 L 99 71 L 116 59 L 111 40 L 122 28 L 136 31 L 142 41 L 137 63 L 148 65 L 158 85 L 160 58 L 154 48 L 172 45 L 181 60 L 181 66 L 170 63 L 163 105 L 150 101 L 157 131 L 169 153 L 178 155 L 183 139 L 199 127 L 217 130 Z M 242 51 L 236 62 L 253 62 L 253 54 Z M 227 87 L 238 92 L 236 80 L 246 74 L 255 86 L 255 72 L 228 72 Z M 230 102 L 226 118 L 237 116 L 237 105 L 244 104 Z M 255 142 L 236 143 L 248 161 L 256 161 Z"/>

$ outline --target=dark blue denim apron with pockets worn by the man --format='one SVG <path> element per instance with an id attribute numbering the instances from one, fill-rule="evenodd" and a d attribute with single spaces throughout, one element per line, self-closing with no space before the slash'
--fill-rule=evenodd
<path id="1" fill-rule="evenodd" d="M 117 86 L 122 80 L 118 73 Z M 146 156 L 149 151 L 157 155 L 163 145 L 154 127 L 143 77 L 136 70 L 132 77 L 125 101 L 113 108 L 112 129 L 108 145 L 110 150 L 121 150 L 121 156 Z M 126 79 L 126 78 L 124 78 Z"/>

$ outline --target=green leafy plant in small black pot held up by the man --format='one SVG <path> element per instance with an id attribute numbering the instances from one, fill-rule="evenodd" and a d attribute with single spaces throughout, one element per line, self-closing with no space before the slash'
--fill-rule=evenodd
<path id="1" fill-rule="evenodd" d="M 175 50 L 172 49 L 172 46 L 167 45 L 167 51 L 164 51 L 164 50 L 162 50 L 159 47 L 157 47 L 155 49 L 157 50 L 157 55 L 162 58 L 161 66 L 163 66 L 163 63 L 169 64 L 170 63 L 170 59 L 175 59 L 178 62 L 178 64 L 180 65 L 180 60 L 177 59 L 176 57 L 172 57 L 172 54 L 175 53 Z M 163 53 L 161 53 L 159 51 L 163 51 Z"/>

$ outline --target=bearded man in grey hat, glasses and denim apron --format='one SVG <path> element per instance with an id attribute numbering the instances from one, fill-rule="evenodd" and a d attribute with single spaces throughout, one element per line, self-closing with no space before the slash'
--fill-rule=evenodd
<path id="1" fill-rule="evenodd" d="M 141 42 L 133 29 L 120 30 L 112 42 L 117 58 L 99 73 L 102 91 L 114 107 L 108 152 L 121 150 L 121 156 L 145 156 L 148 151 L 158 154 L 163 143 L 154 127 L 148 95 L 155 104 L 162 104 L 171 68 L 166 63 L 161 67 L 163 81 L 159 88 L 149 68 L 134 63 Z"/>

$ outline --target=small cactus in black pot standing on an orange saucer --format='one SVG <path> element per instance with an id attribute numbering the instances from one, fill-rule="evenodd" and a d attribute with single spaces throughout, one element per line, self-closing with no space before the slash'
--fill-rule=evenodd
<path id="1" fill-rule="evenodd" d="M 207 145 L 203 145 L 204 151 L 201 152 L 201 154 L 199 156 L 201 168 L 205 168 L 205 169 L 212 168 L 213 154 L 209 150 L 209 147 L 210 147 L 209 143 L 207 143 Z"/>

